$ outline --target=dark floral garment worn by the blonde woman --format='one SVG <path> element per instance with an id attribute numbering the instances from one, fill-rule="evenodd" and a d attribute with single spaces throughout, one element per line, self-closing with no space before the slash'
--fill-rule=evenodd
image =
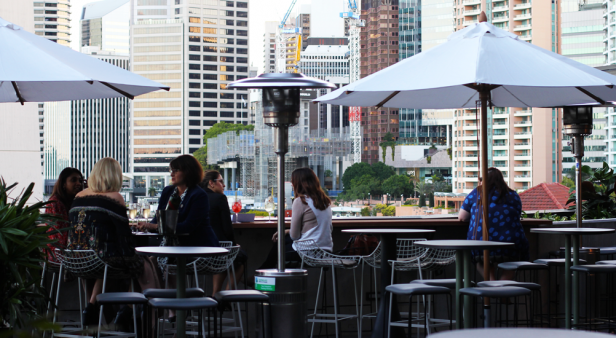
<path id="1" fill-rule="evenodd" d="M 69 250 L 94 250 L 114 268 L 130 270 L 137 277 L 143 258 L 135 254 L 126 207 L 102 195 L 75 198 L 69 211 Z"/>

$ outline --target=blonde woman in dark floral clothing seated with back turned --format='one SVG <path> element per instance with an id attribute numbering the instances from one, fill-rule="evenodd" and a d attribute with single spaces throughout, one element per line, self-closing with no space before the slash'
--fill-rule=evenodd
<path id="1" fill-rule="evenodd" d="M 67 247 L 94 250 L 105 263 L 137 279 L 142 290 L 160 287 L 155 262 L 135 254 L 126 205 L 119 193 L 121 187 L 122 168 L 118 161 L 106 157 L 96 162 L 88 178 L 88 188 L 77 194 L 69 211 L 71 228 Z M 87 292 L 91 296 L 83 319 L 84 324 L 94 325 L 98 323 L 99 311 L 95 306 L 96 296 L 102 292 L 103 280 L 88 284 Z M 115 323 L 125 323 L 131 315 L 130 309 L 123 307 Z"/>

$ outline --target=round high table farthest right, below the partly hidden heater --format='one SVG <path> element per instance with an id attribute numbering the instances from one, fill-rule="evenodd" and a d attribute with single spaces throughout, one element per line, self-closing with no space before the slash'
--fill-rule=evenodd
<path id="1" fill-rule="evenodd" d="M 580 319 L 578 296 L 578 273 L 573 273 L 573 288 L 571 287 L 571 247 L 573 246 L 573 265 L 580 263 L 580 235 L 602 235 L 614 232 L 614 229 L 601 228 L 534 228 L 530 232 L 538 234 L 565 235 L 565 328 L 571 328 L 571 315 L 573 311 L 573 325 Z M 573 289 L 573 301 L 571 291 Z"/>

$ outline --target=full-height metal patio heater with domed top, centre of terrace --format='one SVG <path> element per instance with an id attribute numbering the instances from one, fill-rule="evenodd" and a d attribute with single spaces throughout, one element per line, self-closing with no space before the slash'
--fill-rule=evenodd
<path id="1" fill-rule="evenodd" d="M 300 117 L 301 88 L 336 88 L 333 84 L 300 73 L 270 73 L 230 83 L 228 88 L 262 90 L 263 123 L 274 127 L 274 150 L 278 160 L 278 269 L 257 270 L 255 288 L 270 297 L 272 323 L 263 337 L 305 337 L 308 272 L 285 270 L 284 156 L 289 151 L 289 127 Z"/>

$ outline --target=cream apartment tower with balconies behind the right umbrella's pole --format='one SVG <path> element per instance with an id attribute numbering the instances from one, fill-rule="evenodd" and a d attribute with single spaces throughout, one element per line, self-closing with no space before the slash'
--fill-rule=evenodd
<path id="1" fill-rule="evenodd" d="M 453 10 L 456 30 L 477 22 L 485 11 L 488 22 L 513 32 L 522 41 L 561 52 L 561 8 L 556 1 L 456 0 Z M 454 192 L 470 192 L 477 186 L 476 113 L 475 109 L 455 111 Z M 488 165 L 499 168 L 516 190 L 560 182 L 561 120 L 559 109 L 494 108 L 488 114 Z"/>

